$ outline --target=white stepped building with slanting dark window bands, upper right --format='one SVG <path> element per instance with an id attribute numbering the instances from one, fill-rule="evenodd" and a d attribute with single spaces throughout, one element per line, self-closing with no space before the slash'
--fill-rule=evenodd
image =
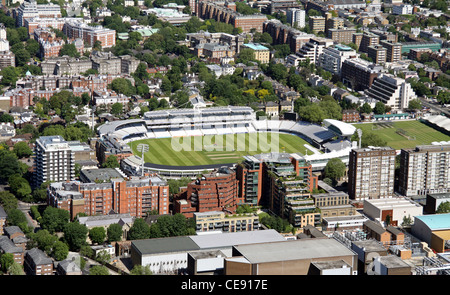
<path id="1" fill-rule="evenodd" d="M 381 74 L 365 91 L 366 95 L 383 102 L 392 108 L 392 111 L 401 111 L 408 108 L 412 99 L 417 97 L 416 93 L 404 79 L 393 75 Z"/>

